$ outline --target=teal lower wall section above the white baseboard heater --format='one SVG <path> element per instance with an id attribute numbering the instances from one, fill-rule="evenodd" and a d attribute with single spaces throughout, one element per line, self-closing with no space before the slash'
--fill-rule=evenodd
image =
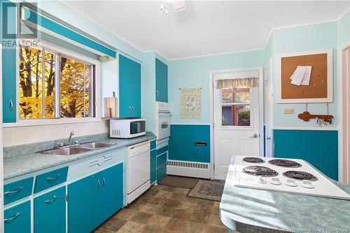
<path id="1" fill-rule="evenodd" d="M 172 125 L 169 139 L 169 160 L 210 162 L 209 125 Z M 195 142 L 207 146 L 195 146 Z"/>

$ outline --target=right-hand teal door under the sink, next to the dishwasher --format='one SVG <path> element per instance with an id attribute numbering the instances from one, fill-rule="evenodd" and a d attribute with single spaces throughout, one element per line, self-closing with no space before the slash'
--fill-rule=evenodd
<path id="1" fill-rule="evenodd" d="M 123 163 L 100 171 L 98 176 L 102 188 L 99 192 L 97 218 L 103 223 L 123 208 Z"/>

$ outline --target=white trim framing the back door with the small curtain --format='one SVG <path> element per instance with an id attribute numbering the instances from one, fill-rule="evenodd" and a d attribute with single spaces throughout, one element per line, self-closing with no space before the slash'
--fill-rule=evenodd
<path id="1" fill-rule="evenodd" d="M 218 71 L 209 71 L 209 92 L 210 92 L 210 176 L 214 179 L 214 74 L 216 73 L 236 73 L 244 71 L 258 71 L 259 72 L 259 155 L 264 154 L 264 75 L 262 66 L 253 66 L 238 69 L 224 69 Z"/>

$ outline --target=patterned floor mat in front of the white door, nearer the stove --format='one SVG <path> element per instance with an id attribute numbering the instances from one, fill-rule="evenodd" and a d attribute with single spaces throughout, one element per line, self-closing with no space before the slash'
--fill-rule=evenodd
<path id="1" fill-rule="evenodd" d="M 197 197 L 220 202 L 223 195 L 223 181 L 199 180 L 193 190 L 188 192 L 188 197 Z"/>

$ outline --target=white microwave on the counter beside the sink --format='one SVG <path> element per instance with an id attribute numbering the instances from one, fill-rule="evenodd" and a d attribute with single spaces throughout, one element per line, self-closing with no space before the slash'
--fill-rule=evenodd
<path id="1" fill-rule="evenodd" d="M 146 135 L 145 119 L 109 120 L 109 137 L 131 139 Z"/>

